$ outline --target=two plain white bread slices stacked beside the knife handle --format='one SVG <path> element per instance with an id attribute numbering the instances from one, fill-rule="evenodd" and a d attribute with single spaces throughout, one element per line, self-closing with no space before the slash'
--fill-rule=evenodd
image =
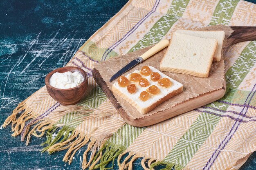
<path id="1" fill-rule="evenodd" d="M 219 62 L 224 31 L 177 30 L 160 63 L 161 71 L 208 77 L 212 62 Z"/>

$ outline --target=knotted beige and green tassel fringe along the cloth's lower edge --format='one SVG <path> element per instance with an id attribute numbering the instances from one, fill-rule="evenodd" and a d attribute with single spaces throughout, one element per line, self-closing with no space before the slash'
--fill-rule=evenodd
<path id="1" fill-rule="evenodd" d="M 23 111 L 23 112 L 22 112 Z M 22 113 L 21 113 L 22 112 Z M 17 118 L 18 114 L 20 116 Z M 30 121 L 28 123 L 28 121 Z M 114 167 L 114 161 L 117 159 L 117 164 L 120 170 L 132 170 L 132 163 L 141 159 L 141 166 L 144 170 L 154 170 L 155 166 L 164 165 L 162 170 L 169 170 L 175 167 L 175 170 L 182 170 L 184 167 L 176 163 L 168 163 L 159 161 L 155 158 L 148 157 L 144 154 L 135 153 L 128 150 L 124 146 L 113 144 L 107 141 L 108 138 L 103 137 L 104 140 L 96 139 L 90 134 L 86 135 L 83 132 L 70 128 L 69 126 L 56 126 L 56 122 L 46 118 L 40 117 L 33 110 L 31 110 L 26 100 L 21 102 L 13 113 L 4 121 L 3 127 L 6 128 L 11 123 L 12 136 L 21 135 L 21 141 L 24 141 L 26 136 L 26 145 L 29 144 L 32 135 L 35 137 L 43 137 L 46 132 L 46 141 L 42 144 L 46 145 L 41 151 L 47 151 L 49 154 L 67 150 L 63 161 L 72 163 L 75 153 L 87 144 L 87 149 L 83 153 L 82 168 L 92 169 L 111 169 Z M 55 134 L 55 135 L 53 135 Z M 89 161 L 87 158 L 89 157 Z M 109 165 L 112 165 L 109 168 Z M 106 167 L 108 166 L 108 168 Z"/>

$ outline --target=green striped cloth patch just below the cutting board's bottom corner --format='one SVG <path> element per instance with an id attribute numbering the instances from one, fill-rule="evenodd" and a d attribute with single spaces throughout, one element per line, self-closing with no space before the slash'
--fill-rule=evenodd
<path id="1" fill-rule="evenodd" d="M 130 126 L 129 124 L 125 124 L 110 137 L 109 142 L 128 148 L 144 129 L 145 128 L 137 128 Z"/>

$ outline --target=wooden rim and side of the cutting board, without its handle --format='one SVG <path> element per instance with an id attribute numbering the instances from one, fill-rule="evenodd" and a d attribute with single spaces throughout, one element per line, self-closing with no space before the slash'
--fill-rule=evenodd
<path id="1" fill-rule="evenodd" d="M 169 119 L 171 117 L 180 115 L 182 113 L 186 113 L 190 110 L 193 110 L 195 108 L 198 108 L 200 106 L 204 106 L 206 104 L 209 104 L 211 102 L 214 102 L 221 97 L 225 95 L 226 91 L 226 82 L 223 86 L 223 88 L 212 91 L 209 93 L 205 93 L 203 95 L 200 95 L 198 97 L 189 99 L 185 102 L 182 102 L 180 104 L 177 104 L 171 109 L 164 110 L 162 112 L 157 112 L 153 115 L 142 117 L 138 119 L 133 119 L 130 117 L 124 109 L 120 106 L 120 104 L 117 102 L 117 99 L 113 95 L 113 93 L 110 91 L 110 89 L 107 87 L 106 82 L 102 79 L 101 75 L 99 74 L 99 71 L 97 69 L 93 69 L 92 75 L 99 84 L 99 86 L 102 88 L 103 92 L 106 94 L 110 102 L 113 104 L 113 106 L 117 109 L 118 113 L 123 117 L 123 119 L 130 125 L 136 126 L 136 127 L 144 127 L 144 126 L 150 126 L 153 124 L 157 124 L 158 122 L 164 121 L 166 119 Z"/>

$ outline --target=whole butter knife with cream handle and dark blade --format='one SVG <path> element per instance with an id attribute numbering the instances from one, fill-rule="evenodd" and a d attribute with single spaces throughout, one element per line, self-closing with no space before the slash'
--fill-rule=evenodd
<path id="1" fill-rule="evenodd" d="M 153 46 L 151 49 L 149 49 L 148 51 L 146 51 L 144 54 L 142 54 L 141 56 L 139 56 L 138 58 L 136 58 L 135 60 L 132 60 L 129 64 L 127 64 L 126 66 L 124 66 L 123 68 L 121 68 L 121 70 L 119 70 L 117 73 L 115 73 L 111 78 L 110 78 L 110 82 L 112 82 L 114 79 L 116 79 L 117 77 L 119 77 L 120 75 L 124 74 L 126 71 L 130 70 L 132 67 L 136 66 L 137 64 L 143 62 L 144 60 L 148 59 L 149 57 L 151 57 L 152 55 L 154 55 L 155 53 L 157 53 L 158 51 L 161 51 L 162 49 L 164 49 L 166 46 L 169 45 L 169 40 L 162 40 L 160 42 L 158 42 L 157 44 L 155 44 L 155 46 Z"/>

